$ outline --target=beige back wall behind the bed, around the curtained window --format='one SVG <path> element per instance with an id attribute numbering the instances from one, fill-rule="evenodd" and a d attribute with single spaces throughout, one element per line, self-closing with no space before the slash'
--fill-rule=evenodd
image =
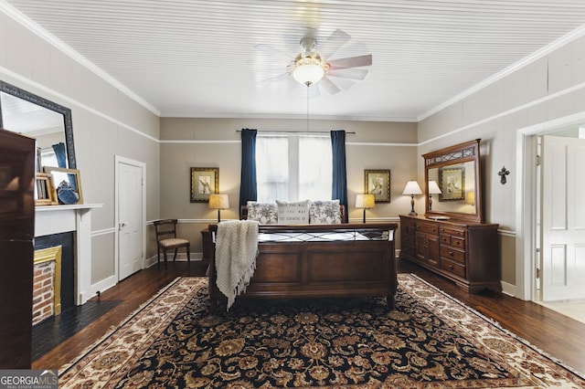
<path id="1" fill-rule="evenodd" d="M 348 216 L 360 221 L 356 194 L 364 192 L 364 170 L 390 170 L 390 203 L 367 211 L 368 220 L 397 221 L 410 211 L 403 196 L 407 181 L 416 176 L 416 123 L 368 121 L 310 121 L 311 131 L 346 130 Z M 200 231 L 217 221 L 207 204 L 189 202 L 190 167 L 218 167 L 219 191 L 229 195 L 223 218 L 238 217 L 242 128 L 259 131 L 303 131 L 305 120 L 161 119 L 161 216 L 181 221 L 179 231 L 191 239 L 191 251 L 201 251 Z"/>

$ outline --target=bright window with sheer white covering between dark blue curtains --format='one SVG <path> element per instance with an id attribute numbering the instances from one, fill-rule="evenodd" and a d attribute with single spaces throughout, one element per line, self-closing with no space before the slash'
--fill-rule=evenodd
<path id="1" fill-rule="evenodd" d="M 328 136 L 261 135 L 256 140 L 258 201 L 331 199 Z"/>

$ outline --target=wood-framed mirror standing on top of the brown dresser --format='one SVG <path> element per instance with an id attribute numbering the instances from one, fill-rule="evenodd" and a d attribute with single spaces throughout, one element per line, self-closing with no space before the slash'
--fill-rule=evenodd
<path id="1" fill-rule="evenodd" d="M 455 144 L 422 154 L 425 162 L 425 216 L 483 223 L 479 142 Z"/>

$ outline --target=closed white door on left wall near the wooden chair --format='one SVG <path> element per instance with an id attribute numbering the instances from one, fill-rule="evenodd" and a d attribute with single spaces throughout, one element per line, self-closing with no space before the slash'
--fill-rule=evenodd
<path id="1" fill-rule="evenodd" d="M 144 266 L 144 165 L 116 158 L 118 280 Z"/>

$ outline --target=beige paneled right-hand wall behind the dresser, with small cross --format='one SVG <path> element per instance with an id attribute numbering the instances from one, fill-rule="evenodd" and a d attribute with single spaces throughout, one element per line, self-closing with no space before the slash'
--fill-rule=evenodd
<path id="1" fill-rule="evenodd" d="M 584 64 L 585 37 L 579 37 L 419 122 L 419 153 L 483 140 L 484 215 L 487 222 L 500 224 L 502 279 L 512 287 L 522 277 L 518 269 L 525 266 L 529 255 L 516 258 L 516 241 L 530 239 L 529 231 L 520 233 L 522 226 L 517 226 L 517 215 L 522 211 L 518 205 L 523 200 L 517 198 L 523 181 L 517 176 L 522 178 L 525 173 L 516 170 L 521 165 L 518 150 L 522 150 L 522 144 L 516 142 L 522 139 L 518 133 L 532 133 L 530 129 L 538 131 L 538 127 L 548 131 L 557 122 L 583 116 Z M 503 166 L 511 172 L 505 185 L 497 175 Z M 419 177 L 422 172 L 420 164 Z M 510 291 L 522 294 L 514 288 Z"/>

